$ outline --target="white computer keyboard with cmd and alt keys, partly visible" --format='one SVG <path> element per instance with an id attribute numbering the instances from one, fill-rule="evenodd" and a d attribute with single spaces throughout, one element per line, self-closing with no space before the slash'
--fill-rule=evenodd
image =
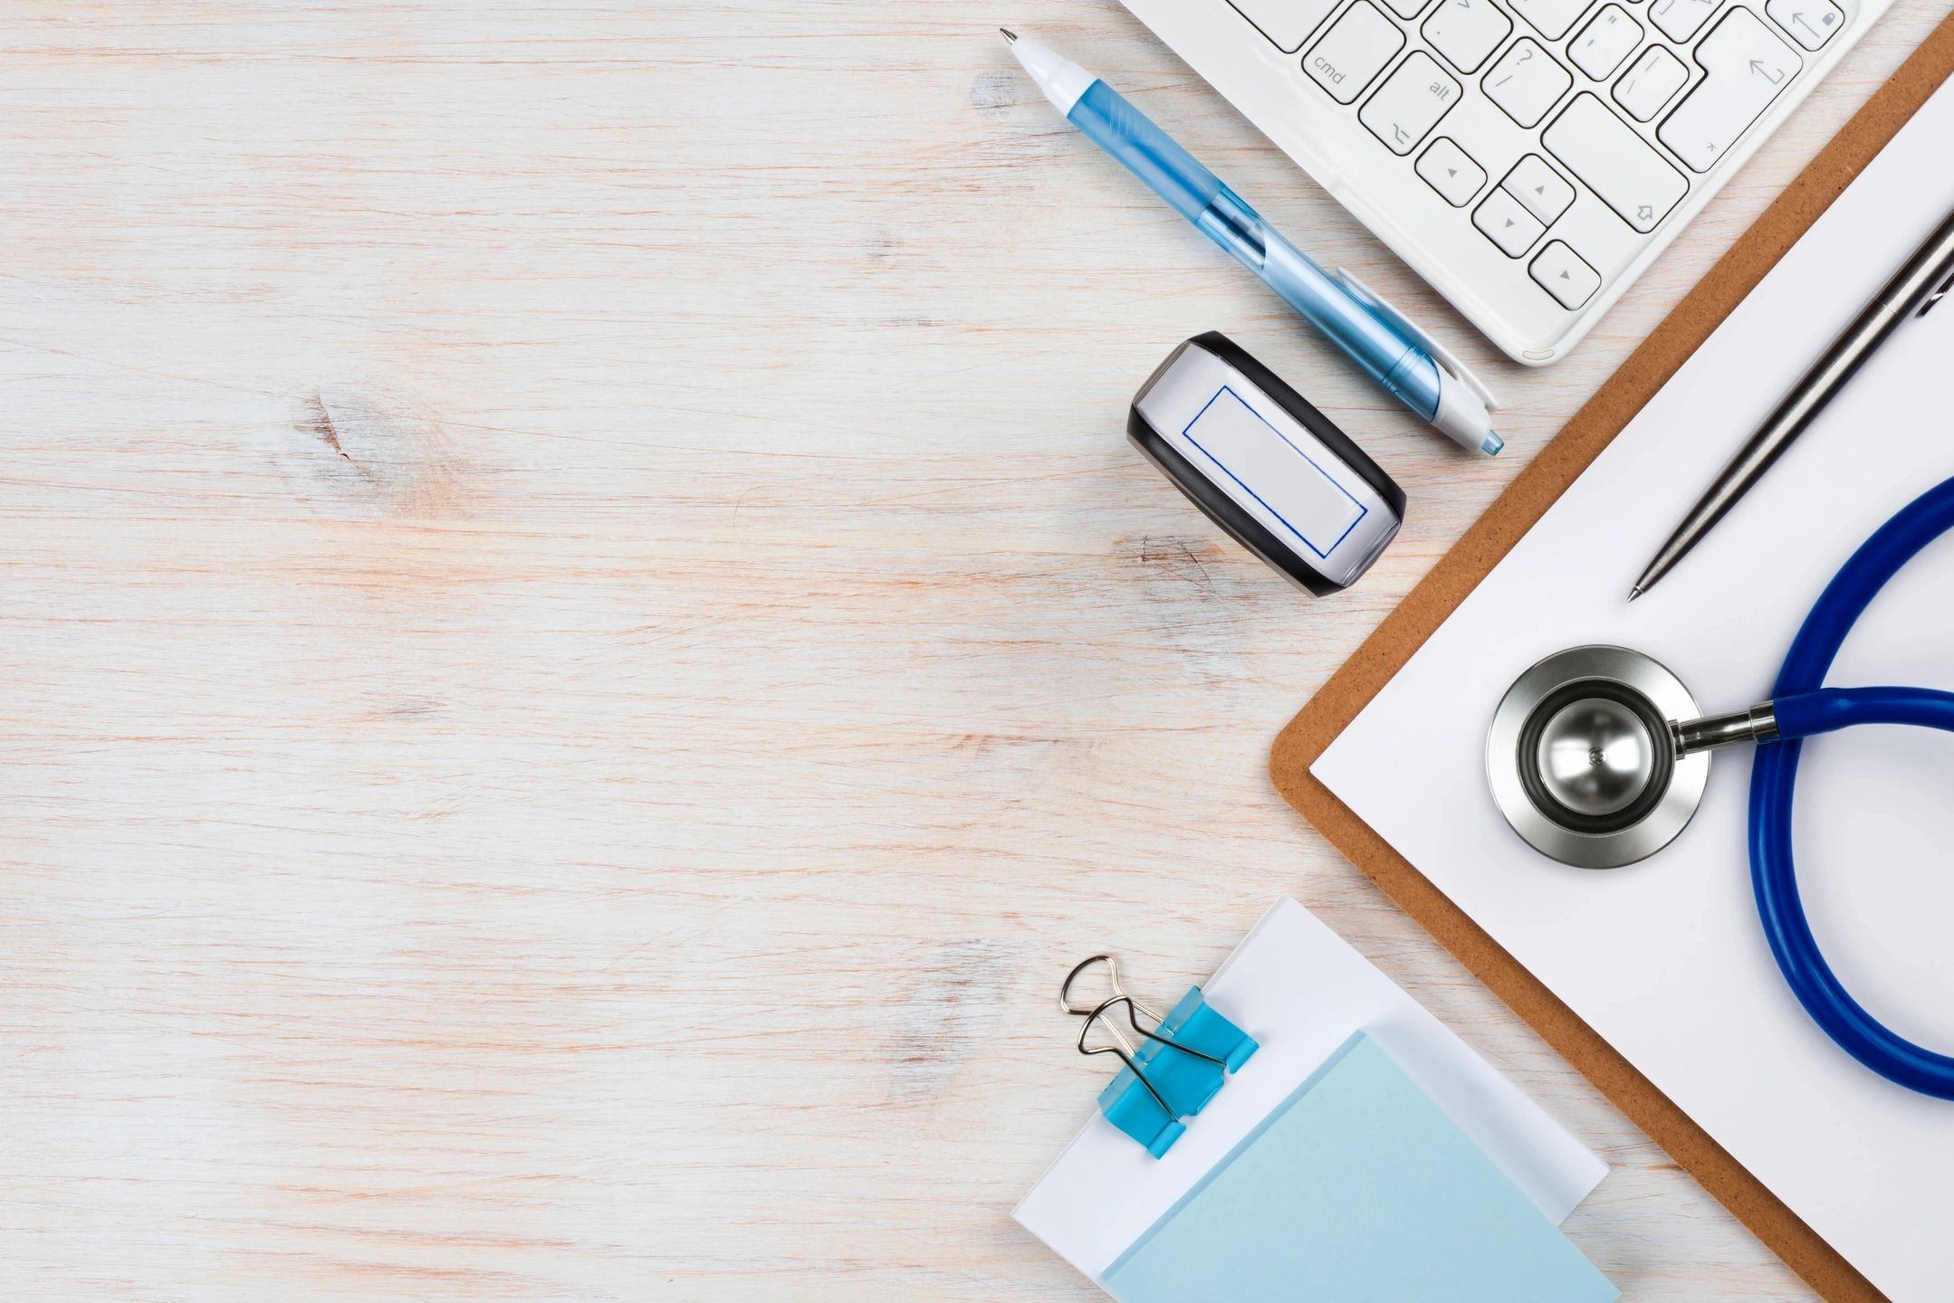
<path id="1" fill-rule="evenodd" d="M 1487 338 L 1540 365 L 1890 0 L 1124 4 Z"/>

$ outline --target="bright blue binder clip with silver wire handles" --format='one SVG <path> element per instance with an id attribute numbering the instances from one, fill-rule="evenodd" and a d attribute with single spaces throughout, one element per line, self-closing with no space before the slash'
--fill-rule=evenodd
<path id="1" fill-rule="evenodd" d="M 1098 1004 L 1075 1004 L 1073 983 L 1096 963 L 1106 965 L 1112 996 Z M 1172 1149 L 1188 1129 L 1180 1119 L 1208 1108 L 1229 1072 L 1237 1072 L 1256 1051 L 1254 1037 L 1217 1014 L 1202 998 L 1200 987 L 1190 987 L 1161 1018 L 1126 992 L 1112 955 L 1092 955 L 1075 965 L 1059 987 L 1059 1006 L 1086 1020 L 1079 1030 L 1079 1053 L 1120 1055 L 1126 1067 L 1100 1090 L 1100 1112 L 1155 1158 Z M 1120 1006 L 1126 1006 L 1127 1026 L 1145 1039 L 1143 1045 L 1135 1045 L 1112 1022 L 1112 1012 Z M 1153 1031 L 1139 1026 L 1141 1014 L 1153 1020 Z M 1112 1033 L 1116 1043 L 1088 1047 L 1094 1026 Z"/>

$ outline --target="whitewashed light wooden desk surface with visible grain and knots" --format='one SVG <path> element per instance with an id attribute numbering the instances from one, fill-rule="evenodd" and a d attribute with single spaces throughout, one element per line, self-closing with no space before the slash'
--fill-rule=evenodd
<path id="1" fill-rule="evenodd" d="M 1602 1153 L 1630 1299 L 1796 1280 L 1266 746 L 1946 12 L 1581 352 L 1489 346 L 1110 0 L 6 6 L 0 1287 L 1086 1299 L 1053 983 L 1315 908 Z M 1090 59 L 1497 379 L 1471 459 L 1053 119 Z M 1309 602 L 1122 438 L 1225 328 L 1407 486 Z"/>

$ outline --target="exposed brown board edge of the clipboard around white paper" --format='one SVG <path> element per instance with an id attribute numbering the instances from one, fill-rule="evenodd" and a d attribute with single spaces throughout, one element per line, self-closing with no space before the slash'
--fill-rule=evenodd
<path id="1" fill-rule="evenodd" d="M 1319 783 L 1309 766 L 1397 674 L 1424 639 L 1477 588 L 1520 537 L 1655 397 L 1710 332 L 1776 266 L 1798 236 L 1831 207 L 1858 172 L 1954 74 L 1954 16 L 1921 43 L 1764 215 L 1718 260 L 1643 344 L 1622 363 L 1485 516 L 1405 596 L 1350 660 L 1276 736 L 1268 774 L 1282 797 L 1419 920 L 1512 1012 L 1581 1071 L 1630 1121 L 1663 1147 L 1723 1207 L 1829 1303 L 1886 1303 L 1839 1250 L 1798 1219 L 1710 1133 L 1677 1108 L 1608 1041 L 1561 1004 L 1438 887 Z"/>

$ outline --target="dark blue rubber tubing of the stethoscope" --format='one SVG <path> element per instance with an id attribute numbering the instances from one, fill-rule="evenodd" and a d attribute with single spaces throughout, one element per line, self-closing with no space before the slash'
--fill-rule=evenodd
<path id="1" fill-rule="evenodd" d="M 1759 746 L 1751 766 L 1751 887 L 1784 981 L 1841 1049 L 1880 1076 L 1940 1100 L 1954 1100 L 1954 1057 L 1888 1030 L 1847 992 L 1819 953 L 1792 863 L 1792 787 L 1798 738 L 1848 725 L 1921 725 L 1954 733 L 1954 694 L 1823 686 L 1860 613 L 1901 567 L 1948 529 L 1954 529 L 1954 479 L 1901 508 L 1841 567 L 1778 670 L 1772 705 L 1782 740 Z"/>

